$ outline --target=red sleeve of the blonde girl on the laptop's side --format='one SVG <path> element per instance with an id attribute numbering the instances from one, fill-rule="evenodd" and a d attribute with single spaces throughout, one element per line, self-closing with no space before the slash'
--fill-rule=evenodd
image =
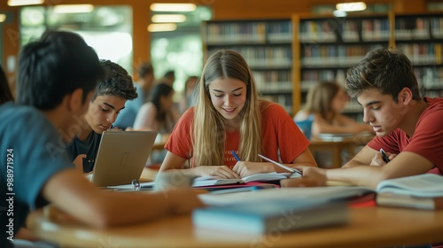
<path id="1" fill-rule="evenodd" d="M 171 151 L 183 159 L 190 159 L 192 157 L 192 143 L 190 141 L 192 120 L 194 120 L 193 107 L 183 113 L 165 144 L 167 151 Z"/>

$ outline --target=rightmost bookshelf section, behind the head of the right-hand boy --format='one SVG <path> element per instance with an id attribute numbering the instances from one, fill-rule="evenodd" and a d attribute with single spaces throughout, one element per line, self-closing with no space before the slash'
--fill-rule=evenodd
<path id="1" fill-rule="evenodd" d="M 443 12 L 395 15 L 395 46 L 414 66 L 422 96 L 443 97 Z"/>

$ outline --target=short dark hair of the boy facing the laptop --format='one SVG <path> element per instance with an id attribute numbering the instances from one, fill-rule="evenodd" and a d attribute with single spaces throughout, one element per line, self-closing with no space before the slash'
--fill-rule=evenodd
<path id="1" fill-rule="evenodd" d="M 138 97 L 132 77 L 128 72 L 110 60 L 100 60 L 100 64 L 105 69 L 105 79 L 99 81 L 92 101 L 98 96 L 111 95 L 126 100 L 133 100 Z"/>

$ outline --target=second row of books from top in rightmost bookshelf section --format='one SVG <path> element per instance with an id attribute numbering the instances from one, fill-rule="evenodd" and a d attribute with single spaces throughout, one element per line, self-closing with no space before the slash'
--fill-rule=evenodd
<path id="1" fill-rule="evenodd" d="M 441 64 L 441 43 L 397 43 L 397 49 L 411 60 L 413 65 Z"/>

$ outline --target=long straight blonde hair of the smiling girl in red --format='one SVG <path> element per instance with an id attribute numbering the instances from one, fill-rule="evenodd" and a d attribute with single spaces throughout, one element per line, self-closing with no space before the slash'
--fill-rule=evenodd
<path id="1" fill-rule="evenodd" d="M 217 50 L 206 61 L 198 83 L 192 147 L 194 166 L 223 165 L 226 128 L 223 117 L 211 101 L 209 85 L 217 79 L 237 79 L 246 84 L 245 106 L 239 112 L 240 143 L 238 156 L 245 161 L 260 161 L 261 113 L 260 101 L 251 69 L 245 58 L 233 50 Z"/>

